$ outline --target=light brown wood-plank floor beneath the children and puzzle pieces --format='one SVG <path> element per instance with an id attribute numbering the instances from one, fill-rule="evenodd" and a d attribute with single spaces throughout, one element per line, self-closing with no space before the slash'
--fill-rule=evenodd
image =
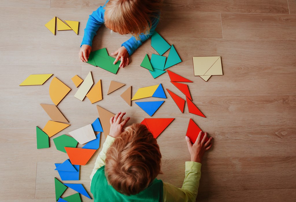
<path id="1" fill-rule="evenodd" d="M 54 201 L 54 177 L 60 179 L 54 163 L 67 158 L 56 150 L 52 138 L 50 148 L 36 149 L 35 127 L 43 128 L 50 120 L 39 104 L 52 104 L 48 91 L 52 78 L 43 86 L 18 86 L 28 75 L 52 73 L 72 89 L 58 105 L 71 126 L 54 137 L 92 123 L 98 117 L 96 104 L 113 113 L 126 111 L 132 117 L 129 124 L 148 118 L 136 104 L 129 107 L 120 98 L 128 86 L 133 86 L 134 94 L 139 87 L 162 83 L 184 97 L 167 74 L 153 79 L 139 66 L 145 54 L 155 53 L 150 39 L 117 75 L 79 60 L 88 15 L 102 4 L 103 0 L 0 1 L 0 201 Z M 170 70 L 194 81 L 190 92 L 207 118 L 188 113 L 187 107 L 180 113 L 166 93 L 168 99 L 153 118 L 175 120 L 157 138 L 164 173 L 158 178 L 181 187 L 184 162 L 190 159 L 184 136 L 192 118 L 214 138 L 202 163 L 197 201 L 296 201 L 296 1 L 165 4 L 157 31 L 174 44 L 183 60 Z M 54 16 L 79 21 L 79 35 L 50 33 L 44 24 Z M 93 50 L 106 47 L 111 54 L 127 39 L 102 27 Z M 192 56 L 221 56 L 224 75 L 207 82 L 194 77 Z M 95 104 L 74 98 L 71 78 L 77 74 L 84 79 L 89 71 L 94 82 L 102 79 L 103 100 Z M 111 80 L 126 86 L 107 95 Z M 143 101 L 147 100 L 162 99 Z M 99 151 L 81 166 L 79 182 L 89 193 L 89 175 Z M 67 189 L 62 197 L 73 193 Z"/>

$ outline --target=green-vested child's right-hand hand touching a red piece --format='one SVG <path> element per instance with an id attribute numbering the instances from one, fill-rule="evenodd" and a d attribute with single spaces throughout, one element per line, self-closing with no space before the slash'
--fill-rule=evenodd
<path id="1" fill-rule="evenodd" d="M 193 145 L 189 137 L 186 136 L 188 150 L 191 155 L 191 161 L 195 161 L 198 163 L 202 162 L 202 156 L 204 155 L 205 151 L 209 150 L 212 147 L 212 137 L 210 137 L 209 140 L 205 142 L 207 133 L 205 133 L 204 137 L 202 138 L 202 141 L 200 141 L 201 136 L 202 132 L 198 134 L 197 139 L 195 140 Z"/>

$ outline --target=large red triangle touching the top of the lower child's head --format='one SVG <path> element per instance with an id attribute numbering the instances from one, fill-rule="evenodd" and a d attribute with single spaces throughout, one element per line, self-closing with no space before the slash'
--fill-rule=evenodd
<path id="1" fill-rule="evenodd" d="M 175 118 L 145 118 L 149 131 L 157 138 Z M 143 121 L 142 121 L 143 122 Z"/>

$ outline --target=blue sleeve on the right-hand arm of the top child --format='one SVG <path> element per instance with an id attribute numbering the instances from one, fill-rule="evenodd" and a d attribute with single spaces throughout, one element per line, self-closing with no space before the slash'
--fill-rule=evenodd
<path id="1" fill-rule="evenodd" d="M 132 36 L 130 39 L 128 39 L 126 42 L 124 42 L 123 44 L 121 44 L 121 46 L 124 46 L 126 48 L 126 50 L 128 51 L 128 54 L 131 55 L 133 54 L 133 52 L 142 45 L 142 42 L 146 41 L 155 31 L 155 28 L 157 26 L 159 22 L 159 17 L 155 17 L 152 20 L 152 26 L 150 29 L 150 33 L 145 35 L 145 34 L 141 34 L 139 37 L 141 40 L 137 41 L 136 38 L 134 36 Z"/>

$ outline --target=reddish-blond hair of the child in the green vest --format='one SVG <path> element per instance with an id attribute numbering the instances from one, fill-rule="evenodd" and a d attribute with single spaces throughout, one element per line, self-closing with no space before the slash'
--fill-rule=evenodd
<path id="1" fill-rule="evenodd" d="M 105 175 L 116 191 L 135 195 L 160 173 L 160 160 L 159 146 L 151 132 L 142 124 L 133 124 L 107 150 Z"/>

